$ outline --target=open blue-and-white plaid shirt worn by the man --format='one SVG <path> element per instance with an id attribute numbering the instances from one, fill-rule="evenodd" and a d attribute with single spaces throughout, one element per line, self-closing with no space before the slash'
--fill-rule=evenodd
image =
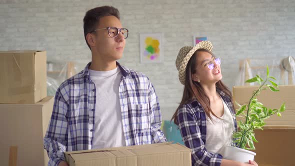
<path id="1" fill-rule="evenodd" d="M 96 89 L 89 65 L 61 83 L 56 91 L 44 137 L 48 165 L 64 160 L 64 151 L 92 147 Z M 117 65 L 122 73 L 118 95 L 126 146 L 166 141 L 160 130 L 160 107 L 153 85 L 144 74 Z"/>

